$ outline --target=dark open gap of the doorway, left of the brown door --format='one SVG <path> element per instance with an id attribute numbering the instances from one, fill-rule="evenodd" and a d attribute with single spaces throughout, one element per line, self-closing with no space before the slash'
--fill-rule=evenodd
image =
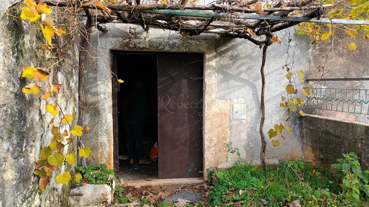
<path id="1" fill-rule="evenodd" d="M 127 130 L 134 135 L 132 145 L 136 159 L 149 159 L 151 148 L 158 141 L 157 57 L 154 54 L 121 53 L 115 54 L 115 61 L 115 74 L 124 80 L 117 88 L 119 176 L 125 180 L 158 178 L 158 161 L 131 166 L 127 151 Z M 135 124 L 132 130 L 129 123 L 139 122 L 137 120 L 142 121 L 138 123 L 142 126 Z M 143 135 L 140 148 L 135 142 L 137 133 Z"/>

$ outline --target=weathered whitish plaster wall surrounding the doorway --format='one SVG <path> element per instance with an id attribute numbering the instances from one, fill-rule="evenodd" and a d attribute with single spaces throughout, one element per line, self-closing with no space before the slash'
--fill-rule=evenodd
<path id="1" fill-rule="evenodd" d="M 259 163 L 261 118 L 261 50 L 258 46 L 241 39 L 220 40 L 214 35 L 181 36 L 161 29 L 150 29 L 144 32 L 136 25 L 106 24 L 107 33 L 94 30 L 90 43 L 94 47 L 101 45 L 97 56 L 103 58 L 90 59 L 92 64 L 86 73 L 86 103 L 89 108 L 86 123 L 93 124 L 91 133 L 86 135 L 86 145 L 99 150 L 91 154 L 93 163 L 107 163 L 112 166 L 113 126 L 111 98 L 111 50 L 149 50 L 149 51 L 184 51 L 204 52 L 204 168 L 232 163 L 237 158 L 228 154 L 224 143 L 232 141 L 238 147 L 242 158 Z M 280 97 L 285 95 L 288 84 L 286 71 L 282 66 L 287 59 L 286 43 L 288 34 L 280 33 L 284 38 L 282 45 L 272 45 L 268 51 L 265 67 L 266 87 L 266 122 L 264 133 L 274 124 L 280 123 L 283 110 L 280 108 Z M 290 49 L 295 53 L 295 66 L 307 69 L 310 45 L 307 39 L 291 37 L 291 45 L 297 42 L 303 45 Z M 286 41 L 287 40 L 287 41 Z M 90 48 L 90 54 L 93 54 Z M 94 55 L 93 55 L 94 56 Z M 138 63 L 141 64 L 141 63 Z M 300 87 L 301 85 L 299 85 Z M 96 97 L 98 97 L 96 99 Z M 231 109 L 234 103 L 248 105 L 247 120 L 231 120 Z M 268 139 L 267 161 L 276 163 L 278 159 L 296 158 L 302 155 L 299 140 L 299 121 L 292 117 L 289 125 L 293 135 L 286 134 L 280 138 L 279 147 L 273 147 Z"/>

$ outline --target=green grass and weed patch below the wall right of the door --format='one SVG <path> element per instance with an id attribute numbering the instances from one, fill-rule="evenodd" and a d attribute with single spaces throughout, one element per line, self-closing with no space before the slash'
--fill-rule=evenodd
<path id="1" fill-rule="evenodd" d="M 305 162 L 280 161 L 266 172 L 252 164 L 235 165 L 211 172 L 215 182 L 208 204 L 222 206 L 350 206 L 341 194 L 340 179 L 332 172 Z"/>

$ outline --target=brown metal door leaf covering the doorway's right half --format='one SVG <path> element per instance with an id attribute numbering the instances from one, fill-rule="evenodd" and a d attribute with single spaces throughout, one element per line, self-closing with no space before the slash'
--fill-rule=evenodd
<path id="1" fill-rule="evenodd" d="M 204 56 L 157 54 L 159 179 L 200 178 Z"/>

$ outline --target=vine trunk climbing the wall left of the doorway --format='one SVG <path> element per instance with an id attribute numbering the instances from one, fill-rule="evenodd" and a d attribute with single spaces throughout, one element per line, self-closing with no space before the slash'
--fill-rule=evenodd
<path id="1" fill-rule="evenodd" d="M 86 23 L 86 32 L 85 35 L 82 36 L 82 44 L 79 53 L 79 73 L 78 73 L 78 97 L 79 97 L 79 119 L 78 125 L 82 126 L 85 129 L 85 57 L 87 50 L 87 42 L 89 39 L 89 35 L 92 31 L 92 25 L 89 21 Z M 77 164 L 79 163 L 79 149 L 85 148 L 85 144 L 83 144 L 83 133 L 82 136 L 77 137 Z M 81 165 L 86 167 L 86 158 L 81 157 Z"/>

